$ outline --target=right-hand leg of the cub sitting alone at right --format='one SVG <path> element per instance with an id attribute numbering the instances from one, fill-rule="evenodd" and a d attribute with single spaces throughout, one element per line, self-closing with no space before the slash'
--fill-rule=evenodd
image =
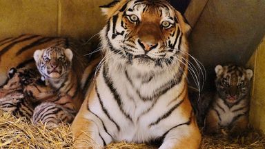
<path id="1" fill-rule="evenodd" d="M 248 117 L 243 115 L 231 123 L 232 128 L 230 129 L 229 135 L 231 137 L 237 137 L 238 135 L 242 135 L 244 130 L 246 130 L 248 126 Z"/>

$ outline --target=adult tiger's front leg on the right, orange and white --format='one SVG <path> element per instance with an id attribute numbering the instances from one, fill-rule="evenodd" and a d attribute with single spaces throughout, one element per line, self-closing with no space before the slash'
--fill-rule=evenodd
<path id="1" fill-rule="evenodd" d="M 170 130 L 159 149 L 197 149 L 200 146 L 201 139 L 195 117 L 193 117 L 190 123 Z"/>

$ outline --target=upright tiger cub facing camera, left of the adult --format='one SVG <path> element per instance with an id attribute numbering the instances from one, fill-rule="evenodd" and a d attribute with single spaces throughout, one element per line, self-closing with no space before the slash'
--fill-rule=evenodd
<path id="1" fill-rule="evenodd" d="M 53 127 L 61 121 L 69 123 L 74 119 L 82 94 L 72 70 L 72 57 L 69 48 L 50 47 L 35 51 L 36 66 L 45 85 L 32 84 L 25 89 L 38 103 L 33 112 L 33 123 L 41 121 Z"/>

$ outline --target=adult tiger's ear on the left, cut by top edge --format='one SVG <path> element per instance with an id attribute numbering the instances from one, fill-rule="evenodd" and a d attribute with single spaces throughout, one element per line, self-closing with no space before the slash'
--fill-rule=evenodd
<path id="1" fill-rule="evenodd" d="M 101 12 L 110 18 L 121 6 L 124 6 L 127 0 L 114 0 L 111 3 L 108 3 L 104 6 L 99 6 L 101 8 Z"/>

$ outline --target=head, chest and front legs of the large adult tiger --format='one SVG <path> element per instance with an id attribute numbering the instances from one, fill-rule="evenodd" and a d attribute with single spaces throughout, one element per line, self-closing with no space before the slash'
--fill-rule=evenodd
<path id="1" fill-rule="evenodd" d="M 104 59 L 72 123 L 75 147 L 112 141 L 199 148 L 187 94 L 190 27 L 166 0 L 121 0 L 102 7 Z"/>

